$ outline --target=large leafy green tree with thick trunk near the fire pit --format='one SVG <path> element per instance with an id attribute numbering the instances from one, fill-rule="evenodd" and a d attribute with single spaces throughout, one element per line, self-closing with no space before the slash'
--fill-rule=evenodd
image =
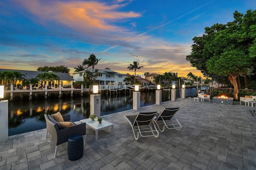
<path id="1" fill-rule="evenodd" d="M 226 76 L 238 99 L 237 77 L 250 74 L 256 58 L 256 10 L 246 14 L 234 12 L 234 21 L 205 28 L 205 34 L 194 37 L 192 53 L 186 57 L 204 76 Z"/>

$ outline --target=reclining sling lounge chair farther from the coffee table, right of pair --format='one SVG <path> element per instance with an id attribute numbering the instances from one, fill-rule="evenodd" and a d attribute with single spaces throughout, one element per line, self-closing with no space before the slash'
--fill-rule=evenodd
<path id="1" fill-rule="evenodd" d="M 165 108 L 161 113 L 156 114 L 156 122 L 157 122 L 157 127 L 160 132 L 164 132 L 164 127 L 167 129 L 175 129 L 176 131 L 179 131 L 182 125 L 180 122 L 177 120 L 177 118 L 174 116 L 175 113 L 180 109 L 180 107 L 177 108 Z M 177 123 L 172 122 L 172 118 L 176 119 Z M 161 130 L 159 125 L 163 125 L 163 129 Z"/>

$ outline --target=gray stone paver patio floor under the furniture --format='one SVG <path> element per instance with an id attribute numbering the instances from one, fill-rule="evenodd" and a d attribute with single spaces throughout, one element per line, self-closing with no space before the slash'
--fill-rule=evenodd
<path id="1" fill-rule="evenodd" d="M 176 113 L 182 124 L 180 131 L 166 129 L 158 138 L 134 139 L 124 115 L 139 111 L 162 111 L 165 107 L 181 107 Z M 111 129 L 86 129 L 83 157 L 68 160 L 67 143 L 55 144 L 46 129 L 10 136 L 0 143 L 0 170 L 102 169 L 102 170 L 186 170 L 186 169 L 256 169 L 256 117 L 248 107 L 194 102 L 191 98 L 163 102 L 102 116 L 114 123 Z"/>

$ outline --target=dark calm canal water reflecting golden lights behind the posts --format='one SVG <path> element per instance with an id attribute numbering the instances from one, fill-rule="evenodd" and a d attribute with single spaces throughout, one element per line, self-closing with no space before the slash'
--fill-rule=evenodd
<path id="1" fill-rule="evenodd" d="M 141 92 L 140 107 L 156 103 L 155 91 Z M 196 88 L 186 90 L 186 96 L 195 96 Z M 170 100 L 170 91 L 162 90 L 162 102 Z M 177 90 L 177 97 L 180 96 Z M 132 93 L 101 96 L 101 115 L 132 109 Z M 72 121 L 86 119 L 90 115 L 90 96 L 74 98 L 50 98 L 17 100 L 9 102 L 9 136 L 46 128 L 44 114 L 70 114 Z"/>

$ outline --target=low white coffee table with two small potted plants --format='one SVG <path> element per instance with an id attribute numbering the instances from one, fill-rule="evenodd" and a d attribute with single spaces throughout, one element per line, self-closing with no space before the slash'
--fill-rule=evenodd
<path id="1" fill-rule="evenodd" d="M 107 127 L 111 127 L 112 129 L 112 133 L 114 133 L 114 124 L 110 123 L 108 121 L 102 120 L 102 123 L 100 124 L 97 121 L 97 118 L 94 119 L 94 121 L 92 121 L 90 118 L 88 119 L 82 119 L 80 120 L 82 123 L 86 123 L 86 126 L 90 127 L 91 129 L 93 129 L 96 132 L 96 136 L 95 139 L 98 140 L 98 131 L 102 130 L 102 129 L 106 129 Z"/>

